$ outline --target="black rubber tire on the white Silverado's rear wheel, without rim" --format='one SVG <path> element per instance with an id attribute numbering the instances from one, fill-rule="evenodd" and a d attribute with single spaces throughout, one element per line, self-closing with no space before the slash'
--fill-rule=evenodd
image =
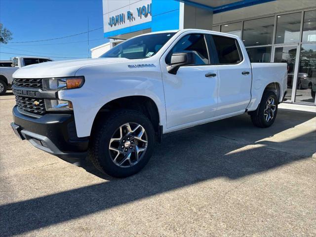
<path id="1" fill-rule="evenodd" d="M 275 100 L 275 112 L 274 112 L 273 118 L 267 121 L 264 115 L 264 112 L 265 112 L 266 103 L 270 98 L 273 98 Z M 276 120 L 277 104 L 278 104 L 278 100 L 277 100 L 276 94 L 270 90 L 264 91 L 261 98 L 261 102 L 257 110 L 249 113 L 252 123 L 257 127 L 270 127 Z"/>

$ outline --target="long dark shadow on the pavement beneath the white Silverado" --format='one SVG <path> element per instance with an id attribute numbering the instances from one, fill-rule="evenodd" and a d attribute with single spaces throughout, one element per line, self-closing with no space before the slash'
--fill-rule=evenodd
<path id="1" fill-rule="evenodd" d="M 273 138 L 315 118 L 315 114 L 279 110 L 277 116 L 276 123 L 267 129 L 253 127 L 248 116 L 242 115 L 166 134 L 149 164 L 125 179 L 110 178 L 87 165 L 88 172 L 108 181 L 0 206 L 1 236 L 23 234 L 201 181 L 238 179 L 311 157 L 316 149 L 312 144 L 315 131 L 281 142 L 260 140 Z M 279 148 L 305 143 L 308 149 L 314 146 L 314 152 L 290 154 L 269 147 L 269 143 L 277 143 Z"/>

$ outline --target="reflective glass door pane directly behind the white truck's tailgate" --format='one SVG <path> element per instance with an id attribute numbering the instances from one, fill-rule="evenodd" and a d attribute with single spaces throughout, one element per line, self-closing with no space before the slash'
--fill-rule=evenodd
<path id="1" fill-rule="evenodd" d="M 275 63 L 287 63 L 287 94 L 285 99 L 290 100 L 294 79 L 294 67 L 297 46 L 277 47 L 275 51 Z"/>

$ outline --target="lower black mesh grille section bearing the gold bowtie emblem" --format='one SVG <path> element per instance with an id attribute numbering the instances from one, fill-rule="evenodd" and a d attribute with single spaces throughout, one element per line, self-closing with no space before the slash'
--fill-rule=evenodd
<path id="1" fill-rule="evenodd" d="M 44 99 L 34 99 L 22 96 L 15 96 L 17 106 L 30 113 L 44 115 L 46 114 Z"/>

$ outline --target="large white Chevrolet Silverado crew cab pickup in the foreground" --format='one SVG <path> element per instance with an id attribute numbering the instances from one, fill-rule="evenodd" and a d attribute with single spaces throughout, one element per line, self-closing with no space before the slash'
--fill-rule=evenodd
<path id="1" fill-rule="evenodd" d="M 101 58 L 32 65 L 13 77 L 11 126 L 21 139 L 73 163 L 89 153 L 115 177 L 141 170 L 163 133 L 245 112 L 269 127 L 287 88 L 285 63 L 250 63 L 238 37 L 192 29 L 145 34 Z"/>

